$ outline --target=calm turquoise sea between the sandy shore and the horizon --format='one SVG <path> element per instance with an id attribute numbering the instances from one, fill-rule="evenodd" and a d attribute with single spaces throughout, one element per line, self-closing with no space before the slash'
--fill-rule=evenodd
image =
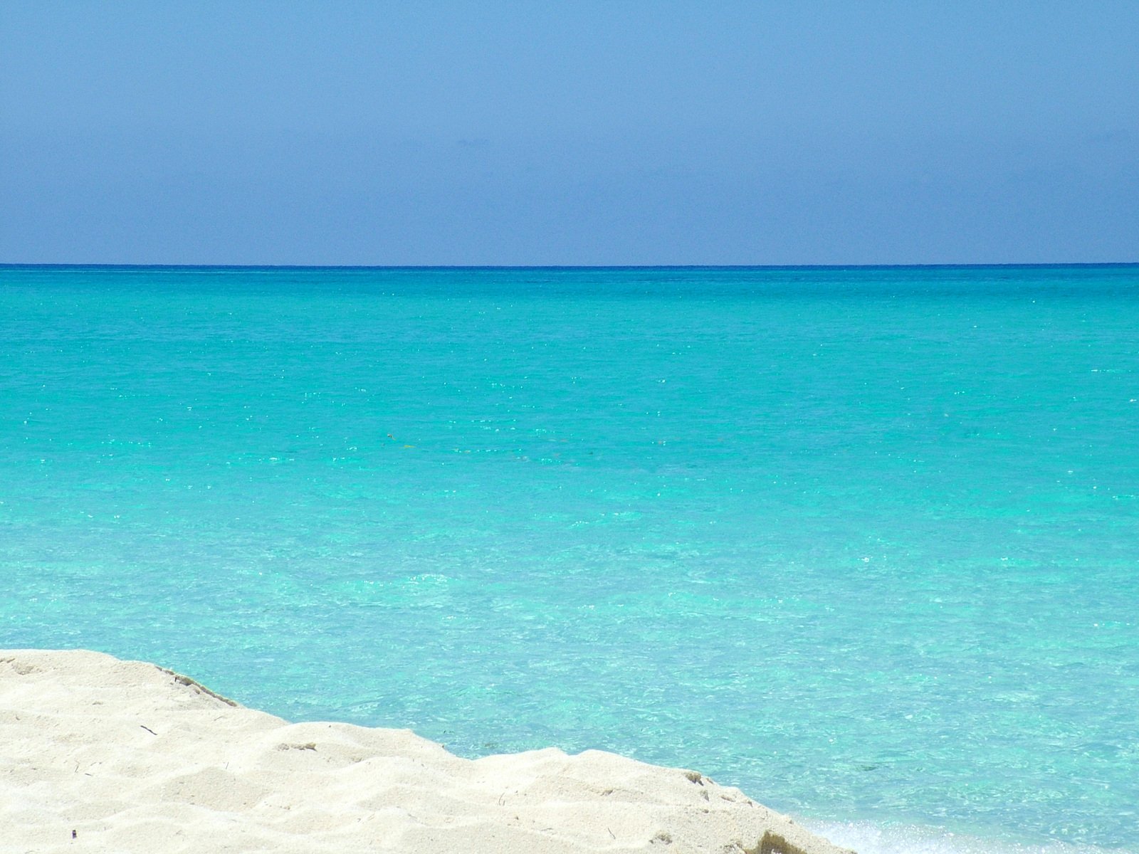
<path id="1" fill-rule="evenodd" d="M 0 646 L 1139 852 L 1139 266 L 8 266 L 0 347 Z"/>

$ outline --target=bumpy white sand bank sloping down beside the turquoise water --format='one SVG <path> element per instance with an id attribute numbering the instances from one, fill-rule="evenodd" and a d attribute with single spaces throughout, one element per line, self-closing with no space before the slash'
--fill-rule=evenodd
<path id="1" fill-rule="evenodd" d="M 141 662 L 0 651 L 0 852 L 838 854 L 691 771 L 289 724 Z"/>

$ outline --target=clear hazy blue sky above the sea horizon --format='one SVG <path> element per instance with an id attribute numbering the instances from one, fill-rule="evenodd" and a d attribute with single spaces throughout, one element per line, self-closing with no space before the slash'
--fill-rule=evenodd
<path id="1" fill-rule="evenodd" d="M 0 0 L 0 263 L 1136 261 L 1133 0 Z"/>

